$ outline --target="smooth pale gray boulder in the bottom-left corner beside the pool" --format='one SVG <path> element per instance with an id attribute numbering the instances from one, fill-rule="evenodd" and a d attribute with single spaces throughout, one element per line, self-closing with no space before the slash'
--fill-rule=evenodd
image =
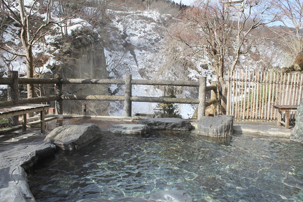
<path id="1" fill-rule="evenodd" d="M 0 201 L 35 202 L 27 183 L 27 174 L 20 166 L 0 170 Z"/>

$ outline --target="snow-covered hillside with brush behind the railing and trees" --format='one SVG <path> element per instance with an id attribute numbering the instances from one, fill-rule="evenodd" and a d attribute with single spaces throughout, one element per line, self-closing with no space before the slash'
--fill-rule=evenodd
<path id="1" fill-rule="evenodd" d="M 27 0 L 27 4 L 34 1 Z M 18 8 L 18 6 L 17 6 Z M 92 8 L 87 8 L 92 11 Z M 52 20 L 59 21 L 60 19 L 53 9 Z M 36 12 L 42 20 L 46 20 L 45 13 Z M 108 21 L 104 27 L 104 33 L 100 27 L 91 25 L 81 16 L 74 16 L 68 20 L 70 26 L 63 30 L 60 26 L 54 24 L 51 26 L 52 32 L 46 34 L 43 42 L 39 41 L 33 46 L 33 54 L 35 57 L 43 54 L 47 60 L 44 61 L 41 67 L 36 68 L 36 73 L 51 72 L 49 68 L 60 66 L 62 61 L 58 60 L 58 53 L 62 52 L 64 46 L 60 44 L 61 36 L 75 35 L 81 29 L 90 29 L 90 33 L 94 34 L 96 41 L 100 41 L 104 46 L 106 57 L 106 68 L 108 78 L 121 79 L 125 74 L 132 74 L 133 79 L 165 79 L 165 80 L 193 80 L 197 81 L 199 76 L 207 76 L 208 85 L 212 80 L 215 80 L 212 71 L 207 68 L 207 62 L 197 62 L 195 58 L 180 58 L 182 67 L 177 62 L 171 62 L 170 52 L 168 48 L 169 25 L 178 23 L 172 15 L 158 12 L 157 10 L 141 11 L 128 8 L 125 5 L 111 4 L 106 10 Z M 13 34 L 18 34 L 19 27 L 14 24 L 8 25 L 5 29 L 7 32 L 2 33 L 2 41 L 12 44 L 16 47 L 21 46 L 20 40 Z M 13 34 L 10 34 L 13 33 Z M 103 35 L 107 35 L 104 37 Z M 91 37 L 87 35 L 86 37 Z M 178 49 L 178 44 L 174 44 L 173 48 Z M 265 51 L 264 51 L 265 50 Z M 18 53 L 22 53 L 22 48 L 18 49 Z M 281 57 L 283 51 L 275 47 L 273 43 L 266 43 L 255 49 L 241 58 L 239 68 L 248 69 L 264 69 L 269 63 L 271 66 L 283 67 L 289 60 L 287 56 Z M 11 62 L 5 61 L 13 56 L 5 51 L 0 51 L 0 66 L 3 76 L 6 76 L 8 69 L 17 70 L 21 75 L 26 74 L 25 58 L 17 57 Z M 271 59 L 269 61 L 268 59 Z M 179 62 L 180 62 L 179 61 Z M 266 63 L 267 62 L 267 63 Z M 260 68 L 261 66 L 261 68 Z M 6 88 L 6 86 L 0 86 Z M 110 94 L 123 95 L 123 86 L 109 86 Z M 197 96 L 197 89 L 194 88 L 178 88 L 177 97 Z M 162 96 L 163 87 L 159 86 L 133 86 L 133 96 Z M 132 114 L 135 113 L 154 113 L 157 103 L 132 103 Z M 180 104 L 179 113 L 183 118 L 191 118 L 196 106 L 188 104 Z M 123 102 L 111 102 L 110 115 L 123 116 Z"/>

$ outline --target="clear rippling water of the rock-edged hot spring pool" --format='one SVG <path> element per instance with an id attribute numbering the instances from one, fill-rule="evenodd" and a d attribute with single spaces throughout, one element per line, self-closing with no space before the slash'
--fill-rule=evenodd
<path id="1" fill-rule="evenodd" d="M 76 153 L 59 151 L 29 173 L 37 201 L 145 197 L 186 190 L 195 201 L 303 200 L 303 146 L 254 135 L 105 133 Z"/>

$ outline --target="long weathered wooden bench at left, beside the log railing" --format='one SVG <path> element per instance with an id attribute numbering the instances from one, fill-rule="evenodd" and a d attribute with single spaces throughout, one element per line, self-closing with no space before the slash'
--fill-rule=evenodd
<path id="1" fill-rule="evenodd" d="M 26 114 L 33 112 L 40 112 L 40 127 L 41 133 L 45 133 L 45 110 L 48 110 L 50 105 L 41 104 L 21 104 L 7 107 L 0 107 L 0 118 L 9 116 L 18 116 L 23 114 L 22 130 L 26 131 Z"/>

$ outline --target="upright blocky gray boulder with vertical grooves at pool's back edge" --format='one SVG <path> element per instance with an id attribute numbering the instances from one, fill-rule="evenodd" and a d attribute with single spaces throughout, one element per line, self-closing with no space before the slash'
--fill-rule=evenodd
<path id="1" fill-rule="evenodd" d="M 198 133 L 212 137 L 231 136 L 233 133 L 233 123 L 233 116 L 202 116 L 198 122 Z"/>

